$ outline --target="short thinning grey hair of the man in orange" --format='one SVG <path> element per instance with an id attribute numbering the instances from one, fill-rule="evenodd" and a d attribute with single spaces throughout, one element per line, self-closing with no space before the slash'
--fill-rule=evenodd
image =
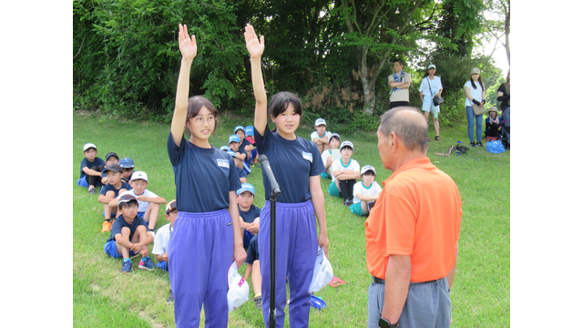
<path id="1" fill-rule="evenodd" d="M 404 111 L 413 111 L 423 118 L 417 108 L 399 107 L 387 110 L 381 116 L 380 131 L 385 138 L 394 132 L 403 140 L 404 147 L 409 150 L 419 149 L 427 151 L 427 121 L 423 119 L 411 119 L 405 115 L 399 115 Z"/>

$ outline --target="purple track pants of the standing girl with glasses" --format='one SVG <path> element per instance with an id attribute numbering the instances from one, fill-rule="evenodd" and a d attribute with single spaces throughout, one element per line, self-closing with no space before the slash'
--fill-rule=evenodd
<path id="1" fill-rule="evenodd" d="M 228 210 L 179 211 L 170 234 L 169 277 L 177 327 L 227 327 L 227 274 L 233 262 L 233 227 Z"/>

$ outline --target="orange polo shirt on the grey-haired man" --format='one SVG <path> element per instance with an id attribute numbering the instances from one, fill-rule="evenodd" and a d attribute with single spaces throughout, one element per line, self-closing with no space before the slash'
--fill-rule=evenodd
<path id="1" fill-rule="evenodd" d="M 410 255 L 411 282 L 445 277 L 454 268 L 461 222 L 454 180 L 428 158 L 406 162 L 384 181 L 364 223 L 368 272 L 385 279 L 390 255 Z"/>

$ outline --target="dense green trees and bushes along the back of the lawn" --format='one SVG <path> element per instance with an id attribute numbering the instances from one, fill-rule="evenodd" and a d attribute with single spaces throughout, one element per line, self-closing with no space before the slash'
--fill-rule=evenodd
<path id="1" fill-rule="evenodd" d="M 414 76 L 413 106 L 420 105 L 417 88 L 424 67 L 438 67 L 437 75 L 444 80 L 444 124 L 455 124 L 458 118 L 446 113 L 456 113 L 469 69 L 480 67 L 492 83 L 501 76 L 488 57 L 472 54 L 488 4 L 74 0 L 74 106 L 168 121 L 179 73 L 178 25 L 186 24 L 199 45 L 190 94 L 209 97 L 221 111 L 249 116 L 254 103 L 242 33 L 251 23 L 265 36 L 262 59 L 268 96 L 281 90 L 297 93 L 308 121 L 324 117 L 345 126 L 346 132 L 373 128 L 388 108 L 386 78 L 392 62 L 402 58 L 405 71 Z"/>

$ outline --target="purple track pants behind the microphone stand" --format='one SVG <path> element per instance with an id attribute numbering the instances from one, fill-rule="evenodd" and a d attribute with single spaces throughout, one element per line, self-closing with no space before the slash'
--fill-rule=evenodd
<path id="1" fill-rule="evenodd" d="M 308 327 L 311 296 L 308 290 L 318 252 L 312 200 L 297 204 L 278 202 L 275 208 L 275 323 L 277 327 L 283 327 L 287 277 L 290 284 L 290 327 Z M 261 210 L 261 229 L 258 237 L 263 321 L 266 327 L 269 327 L 270 323 L 270 231 L 271 203 L 267 200 Z"/>

